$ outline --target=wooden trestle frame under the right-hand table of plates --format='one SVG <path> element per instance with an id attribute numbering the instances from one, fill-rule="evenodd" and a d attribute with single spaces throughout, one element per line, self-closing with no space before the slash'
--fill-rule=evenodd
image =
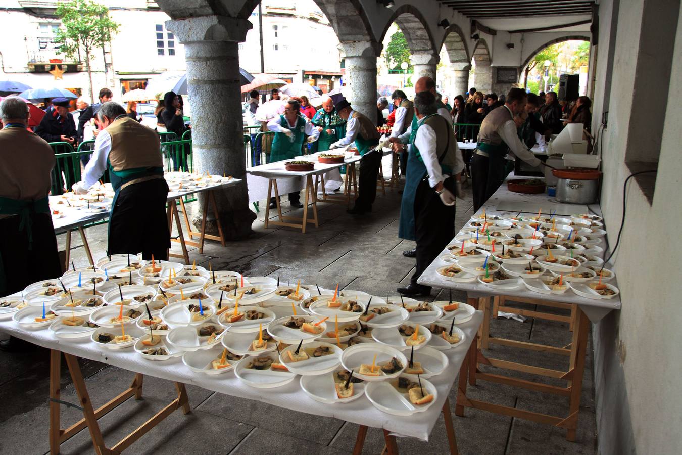
<path id="1" fill-rule="evenodd" d="M 571 315 L 567 317 L 547 312 L 514 308 L 513 306 L 507 305 L 507 299 L 513 302 L 570 310 Z M 471 343 L 469 355 L 467 355 L 467 358 L 465 359 L 464 363 L 462 363 L 462 367 L 460 368 L 457 405 L 455 407 L 456 415 L 463 416 L 464 407 L 472 407 L 474 409 L 482 409 L 484 411 L 491 411 L 501 415 L 520 417 L 522 419 L 532 420 L 533 422 L 539 422 L 541 424 L 549 424 L 559 428 L 565 428 L 567 430 L 566 439 L 568 441 L 576 441 L 578 413 L 580 412 L 580 392 L 582 392 L 582 375 L 585 367 L 585 355 L 587 354 L 589 319 L 587 319 L 587 316 L 576 304 L 562 304 L 558 302 L 548 302 L 542 299 L 527 299 L 522 297 L 505 296 L 494 297 L 494 300 L 494 310 L 492 310 L 492 312 L 490 309 L 490 297 L 484 297 L 481 299 L 469 298 L 467 301 L 467 303 L 474 308 L 479 308 L 479 310 L 484 311 L 484 320 L 477 335 L 478 342 Z M 513 312 L 526 317 L 568 322 L 570 324 L 569 329 L 573 329 L 572 342 L 564 347 L 554 347 L 527 341 L 491 337 L 489 332 L 490 317 L 491 313 L 493 317 L 496 317 L 497 310 Z M 486 357 L 481 350 L 487 349 L 490 343 L 501 344 L 503 346 L 514 347 L 518 349 L 530 349 L 531 351 L 541 351 L 556 355 L 564 355 L 569 357 L 569 367 L 567 371 L 554 370 L 550 368 L 542 368 L 539 366 L 508 362 L 501 359 Z M 563 379 L 567 381 L 567 386 L 558 387 L 556 385 L 549 385 L 542 382 L 527 381 L 525 379 L 518 379 L 507 375 L 484 372 L 479 370 L 480 365 L 501 368 L 502 370 L 527 372 L 533 375 L 552 377 L 555 379 Z M 470 385 L 476 385 L 477 379 L 510 385 L 511 387 L 521 387 L 527 390 L 533 390 L 535 392 L 565 396 L 569 399 L 568 415 L 548 415 L 503 405 L 496 405 L 491 402 L 474 400 L 473 398 L 469 398 L 469 396 L 466 395 L 466 385 L 467 382 Z"/>

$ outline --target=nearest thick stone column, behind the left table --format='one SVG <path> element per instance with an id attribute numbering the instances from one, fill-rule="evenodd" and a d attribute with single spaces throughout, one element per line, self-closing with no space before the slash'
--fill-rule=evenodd
<path id="1" fill-rule="evenodd" d="M 185 46 L 188 92 L 192 103 L 194 168 L 243 180 L 238 186 L 216 194 L 218 218 L 228 239 L 248 236 L 256 219 L 256 214 L 248 207 L 239 85 L 239 42 L 246 40 L 246 32 L 251 27 L 248 20 L 228 16 L 201 16 L 166 22 L 166 28 L 173 31 Z M 204 201 L 205 196 L 200 196 L 192 218 L 196 226 L 201 226 Z M 211 210 L 207 231 L 218 231 Z"/>

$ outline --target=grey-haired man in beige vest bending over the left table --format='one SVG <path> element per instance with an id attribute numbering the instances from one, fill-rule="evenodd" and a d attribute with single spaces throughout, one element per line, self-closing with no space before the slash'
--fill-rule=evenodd
<path id="1" fill-rule="evenodd" d="M 143 259 L 167 259 L 170 233 L 166 220 L 168 184 L 158 134 L 128 117 L 113 101 L 97 113 L 104 130 L 95 140 L 95 151 L 85 167 L 85 178 L 74 184 L 85 194 L 108 169 L 115 190 L 109 220 L 108 253 L 137 254 Z"/>

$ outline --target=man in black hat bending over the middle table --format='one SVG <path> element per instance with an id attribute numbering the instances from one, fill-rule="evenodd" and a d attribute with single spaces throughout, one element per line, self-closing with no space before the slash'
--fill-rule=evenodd
<path id="1" fill-rule="evenodd" d="M 379 145 L 379 132 L 374 122 L 357 111 L 353 111 L 351 104 L 341 100 L 335 106 L 338 115 L 348 121 L 346 136 L 329 146 L 329 149 L 346 147 L 355 141 L 355 147 L 362 156 L 360 160 L 360 175 L 358 177 L 358 194 L 355 207 L 349 209 L 351 215 L 363 215 L 372 211 L 372 203 L 376 198 L 376 176 L 379 174 L 382 155 L 375 151 Z"/>

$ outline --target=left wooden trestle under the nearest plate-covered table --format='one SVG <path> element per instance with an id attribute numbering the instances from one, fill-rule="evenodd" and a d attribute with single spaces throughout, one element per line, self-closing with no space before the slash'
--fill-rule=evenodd
<path id="1" fill-rule="evenodd" d="M 185 414 L 190 413 L 191 411 L 190 400 L 185 390 L 185 385 L 182 383 L 175 383 L 178 394 L 175 400 L 153 415 L 147 422 L 130 433 L 130 435 L 121 439 L 119 443 L 108 448 L 104 445 L 102 431 L 100 430 L 100 424 L 98 424 L 97 420 L 132 396 L 134 396 L 136 400 L 140 400 L 142 398 L 143 375 L 136 373 L 128 390 L 125 390 L 125 392 L 95 410 L 92 407 L 87 387 L 85 387 L 85 381 L 83 381 L 83 373 L 80 371 L 78 359 L 70 354 L 64 354 L 64 358 L 69 368 L 76 394 L 78 395 L 78 405 L 63 402 L 60 399 L 59 379 L 61 377 L 61 352 L 52 349 L 50 350 L 50 454 L 52 455 L 59 454 L 59 445 L 80 430 L 83 430 L 86 426 L 90 432 L 96 454 L 120 454 L 125 448 L 140 439 L 140 437 L 145 435 L 146 432 L 164 420 L 164 418 L 168 417 L 168 415 L 173 413 L 176 409 L 182 408 L 183 413 Z M 65 430 L 61 429 L 59 422 L 59 405 L 61 404 L 76 407 L 83 411 L 83 419 Z"/>

